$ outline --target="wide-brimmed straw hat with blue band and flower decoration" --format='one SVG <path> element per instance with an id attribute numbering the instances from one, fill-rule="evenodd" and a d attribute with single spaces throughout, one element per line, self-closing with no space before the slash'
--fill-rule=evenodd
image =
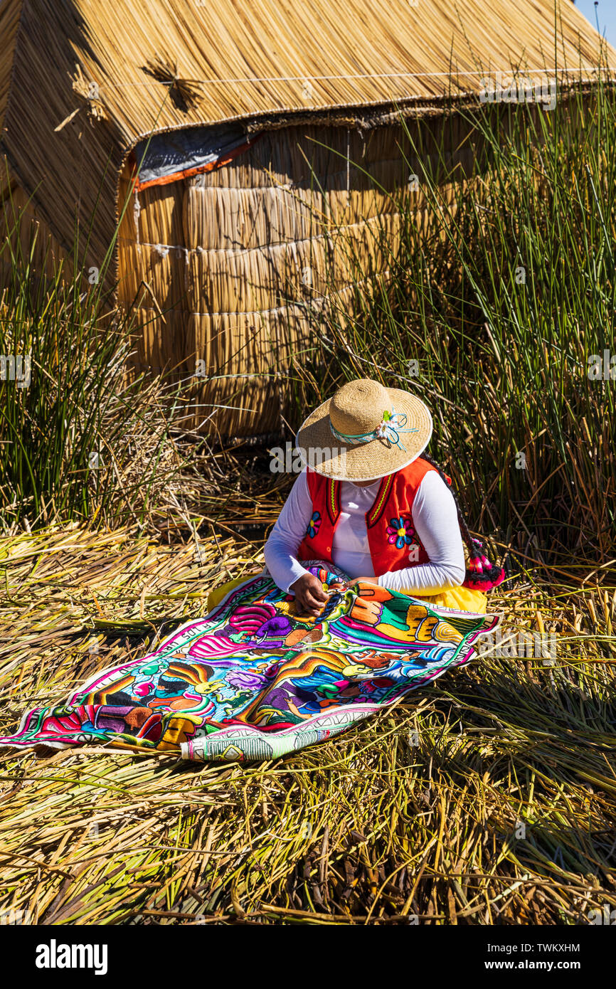
<path id="1" fill-rule="evenodd" d="M 326 478 L 371 481 L 412 463 L 431 435 L 432 416 L 420 399 L 359 378 L 308 415 L 296 445 L 304 464 Z"/>

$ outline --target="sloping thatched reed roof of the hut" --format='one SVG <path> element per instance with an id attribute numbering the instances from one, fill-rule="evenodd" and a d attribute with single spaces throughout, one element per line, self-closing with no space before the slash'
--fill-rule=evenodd
<path id="1" fill-rule="evenodd" d="M 571 0 L 557 7 L 559 65 L 591 75 L 598 37 Z M 102 187 L 101 254 L 119 168 L 143 135 L 349 107 L 421 112 L 478 92 L 485 72 L 552 67 L 554 21 L 553 0 L 0 0 L 2 150 L 65 246 L 75 204 L 85 221 Z"/>

